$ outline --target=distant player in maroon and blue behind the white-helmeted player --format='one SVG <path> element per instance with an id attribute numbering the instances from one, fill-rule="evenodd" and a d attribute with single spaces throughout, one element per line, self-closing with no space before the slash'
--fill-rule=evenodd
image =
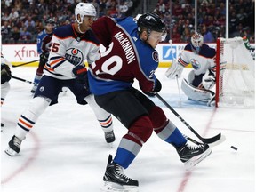
<path id="1" fill-rule="evenodd" d="M 45 28 L 44 30 L 38 34 L 37 36 L 37 52 L 40 54 L 40 60 L 39 60 L 39 66 L 36 69 L 36 76 L 34 78 L 34 83 L 36 83 L 31 92 L 35 93 L 37 84 L 39 84 L 39 81 L 41 77 L 43 76 L 43 70 L 44 65 L 48 60 L 50 48 L 52 45 L 52 35 L 53 35 L 53 29 L 55 27 L 55 21 L 52 18 L 49 18 L 45 22 Z"/>

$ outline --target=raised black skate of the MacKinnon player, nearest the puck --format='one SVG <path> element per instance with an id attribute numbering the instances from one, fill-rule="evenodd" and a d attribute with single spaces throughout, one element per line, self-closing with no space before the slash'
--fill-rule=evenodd
<path id="1" fill-rule="evenodd" d="M 188 142 L 184 145 L 176 148 L 181 162 L 184 163 L 187 170 L 199 164 L 207 156 L 212 153 L 212 149 L 207 144 L 188 145 Z"/>

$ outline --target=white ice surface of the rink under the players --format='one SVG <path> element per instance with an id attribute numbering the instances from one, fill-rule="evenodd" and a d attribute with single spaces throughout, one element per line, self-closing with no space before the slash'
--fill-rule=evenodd
<path id="1" fill-rule="evenodd" d="M 36 68 L 11 69 L 12 76 L 29 81 L 33 81 L 36 73 Z M 254 192 L 255 109 L 213 108 L 187 100 L 181 91 L 179 96 L 176 80 L 164 76 L 166 69 L 156 71 L 163 85 L 159 94 L 164 100 L 203 137 L 221 132 L 226 140 L 212 147 L 212 154 L 188 172 L 176 150 L 153 132 L 132 165 L 124 170 L 126 176 L 139 180 L 140 192 Z M 189 70 L 186 68 L 182 76 L 187 76 Z M 70 91 L 62 92 L 59 104 L 47 108 L 23 140 L 20 154 L 7 156 L 4 149 L 21 112 L 32 99 L 32 84 L 15 79 L 10 83 L 11 91 L 1 108 L 4 123 L 1 132 L 2 191 L 100 192 L 108 154 L 115 156 L 126 132 L 124 126 L 113 117 L 116 141 L 110 148 L 92 109 L 76 104 Z M 152 100 L 164 109 L 181 132 L 196 139 L 160 100 Z"/>

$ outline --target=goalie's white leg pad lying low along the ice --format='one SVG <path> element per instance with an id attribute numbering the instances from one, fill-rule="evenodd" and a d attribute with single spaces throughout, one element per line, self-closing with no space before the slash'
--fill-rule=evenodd
<path id="1" fill-rule="evenodd" d="M 212 91 L 197 89 L 192 84 L 189 84 L 186 79 L 182 80 L 181 90 L 188 96 L 189 99 L 197 101 L 207 102 L 208 100 L 211 100 L 212 96 L 214 95 L 214 92 Z"/>

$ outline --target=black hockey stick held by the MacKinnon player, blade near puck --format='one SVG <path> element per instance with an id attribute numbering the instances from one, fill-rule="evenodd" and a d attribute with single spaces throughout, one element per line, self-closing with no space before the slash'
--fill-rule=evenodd
<path id="1" fill-rule="evenodd" d="M 203 137 L 201 137 L 201 135 L 199 135 L 158 93 L 156 93 L 156 97 L 159 100 L 161 100 L 164 103 L 164 105 L 167 108 L 169 108 L 172 111 L 172 113 L 175 116 L 177 116 L 180 119 L 180 121 L 183 124 L 185 124 L 188 127 L 188 129 L 191 132 L 193 132 L 199 140 L 202 140 L 204 143 L 211 144 L 211 143 L 217 142 L 217 141 L 219 141 L 221 139 L 221 133 L 219 133 L 218 135 L 216 135 L 216 136 L 214 136 L 212 138 L 203 138 Z M 223 140 L 224 140 L 224 138 L 223 138 Z"/>

